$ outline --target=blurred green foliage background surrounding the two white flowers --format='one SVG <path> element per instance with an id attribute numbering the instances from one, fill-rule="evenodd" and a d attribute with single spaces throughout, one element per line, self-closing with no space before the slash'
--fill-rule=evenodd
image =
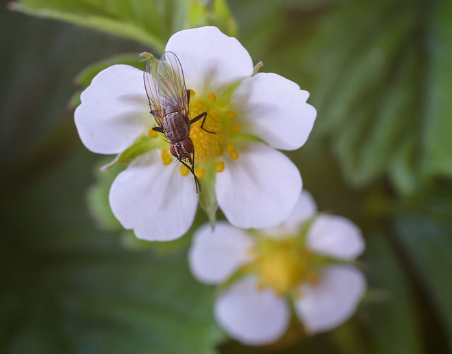
<path id="1" fill-rule="evenodd" d="M 106 203 L 118 170 L 77 136 L 101 68 L 207 24 L 311 92 L 314 131 L 288 155 L 319 209 L 363 230 L 371 287 L 330 333 L 228 340 L 186 260 L 205 215 L 136 240 Z M 0 1 L 0 353 L 451 353 L 451 101 L 450 0 Z"/>

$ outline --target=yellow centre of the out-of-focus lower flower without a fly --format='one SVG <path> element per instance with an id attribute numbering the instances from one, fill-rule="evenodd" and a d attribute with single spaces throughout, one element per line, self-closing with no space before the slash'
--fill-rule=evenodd
<path id="1" fill-rule="evenodd" d="M 258 288 L 272 288 L 279 296 L 296 290 L 303 281 L 314 281 L 309 269 L 310 252 L 295 238 L 264 238 L 253 251 L 258 271 Z"/>

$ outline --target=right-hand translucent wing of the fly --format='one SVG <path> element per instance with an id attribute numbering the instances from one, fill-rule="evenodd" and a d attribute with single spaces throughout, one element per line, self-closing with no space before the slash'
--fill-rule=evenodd
<path id="1" fill-rule="evenodd" d="M 184 71 L 177 55 L 171 51 L 163 53 L 158 64 L 157 94 L 165 114 L 180 112 L 188 116 L 188 97 Z"/>

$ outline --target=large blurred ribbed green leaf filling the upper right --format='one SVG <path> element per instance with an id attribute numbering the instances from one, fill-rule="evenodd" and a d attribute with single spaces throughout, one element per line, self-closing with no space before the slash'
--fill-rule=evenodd
<path id="1" fill-rule="evenodd" d="M 264 10 L 244 12 L 246 26 L 239 12 L 237 18 L 254 41 L 267 45 L 273 36 L 259 58 L 265 70 L 310 91 L 318 118 L 308 144 L 327 137 L 347 181 L 358 187 L 388 175 L 401 194 L 410 195 L 435 176 L 451 177 L 450 2 L 295 3 L 267 15 L 264 26 L 271 19 L 284 23 L 273 25 L 271 35 L 262 34 L 266 28 L 258 23 L 249 29 Z M 290 16 L 281 20 L 281 8 Z M 249 41 L 244 43 L 252 54 L 262 53 Z"/>

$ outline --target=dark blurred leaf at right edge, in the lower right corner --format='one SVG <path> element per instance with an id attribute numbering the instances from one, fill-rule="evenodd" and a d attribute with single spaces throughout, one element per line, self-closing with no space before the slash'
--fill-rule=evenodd
<path id="1" fill-rule="evenodd" d="M 420 275 L 452 347 L 452 223 L 425 216 L 404 216 L 396 222 L 400 242 Z"/>

